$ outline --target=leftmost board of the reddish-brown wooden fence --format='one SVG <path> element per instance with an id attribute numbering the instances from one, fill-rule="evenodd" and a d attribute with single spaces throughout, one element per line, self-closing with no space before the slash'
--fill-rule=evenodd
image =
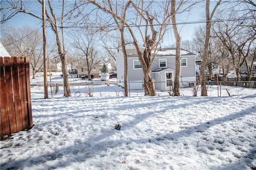
<path id="1" fill-rule="evenodd" d="M 4 79 L 4 58 L 0 57 L 0 108 L 1 108 L 1 136 L 5 134 L 10 134 L 10 124 L 9 124 L 9 117 L 8 117 L 8 107 L 6 104 L 7 95 L 6 95 L 6 86 L 5 86 L 5 79 Z"/>

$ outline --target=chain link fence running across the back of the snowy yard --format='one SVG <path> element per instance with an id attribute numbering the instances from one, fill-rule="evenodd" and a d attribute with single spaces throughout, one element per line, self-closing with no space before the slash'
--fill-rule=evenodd
<path id="1" fill-rule="evenodd" d="M 232 96 L 232 95 L 256 95 L 256 81 L 214 81 L 205 82 L 209 97 Z M 121 97 L 124 96 L 124 82 L 116 81 L 88 81 L 83 83 L 70 83 L 72 96 L 79 97 Z M 170 86 L 167 86 L 170 85 Z M 172 95 L 170 82 L 154 82 L 156 95 Z M 166 86 L 168 90 L 162 91 Z M 200 96 L 201 87 L 199 82 L 180 82 L 180 95 Z M 128 82 L 129 96 L 144 96 L 144 82 Z M 48 87 L 48 97 L 62 97 L 63 85 L 53 84 Z M 31 85 L 32 99 L 44 98 L 43 85 Z"/>

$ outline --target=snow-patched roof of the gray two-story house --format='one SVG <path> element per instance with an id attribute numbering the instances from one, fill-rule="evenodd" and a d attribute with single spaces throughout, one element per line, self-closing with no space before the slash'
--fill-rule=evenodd
<path id="1" fill-rule="evenodd" d="M 156 52 L 156 56 L 175 56 L 176 55 L 176 48 L 158 48 Z M 122 51 L 122 50 L 121 50 Z M 144 49 L 141 49 L 142 53 Z M 136 49 L 126 49 L 127 57 L 138 57 Z M 151 51 L 154 54 L 154 50 Z M 191 53 L 185 49 L 180 50 L 180 55 L 196 55 Z"/>

